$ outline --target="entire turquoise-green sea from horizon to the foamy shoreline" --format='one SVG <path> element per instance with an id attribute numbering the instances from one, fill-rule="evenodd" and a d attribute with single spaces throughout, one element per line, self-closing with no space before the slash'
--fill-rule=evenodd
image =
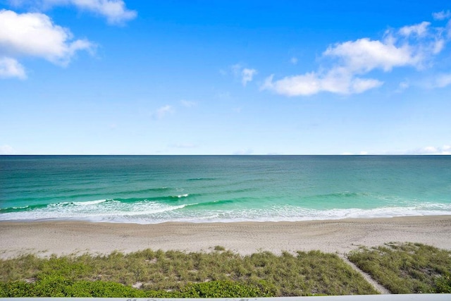
<path id="1" fill-rule="evenodd" d="M 451 214 L 451 156 L 0 156 L 0 221 Z"/>

